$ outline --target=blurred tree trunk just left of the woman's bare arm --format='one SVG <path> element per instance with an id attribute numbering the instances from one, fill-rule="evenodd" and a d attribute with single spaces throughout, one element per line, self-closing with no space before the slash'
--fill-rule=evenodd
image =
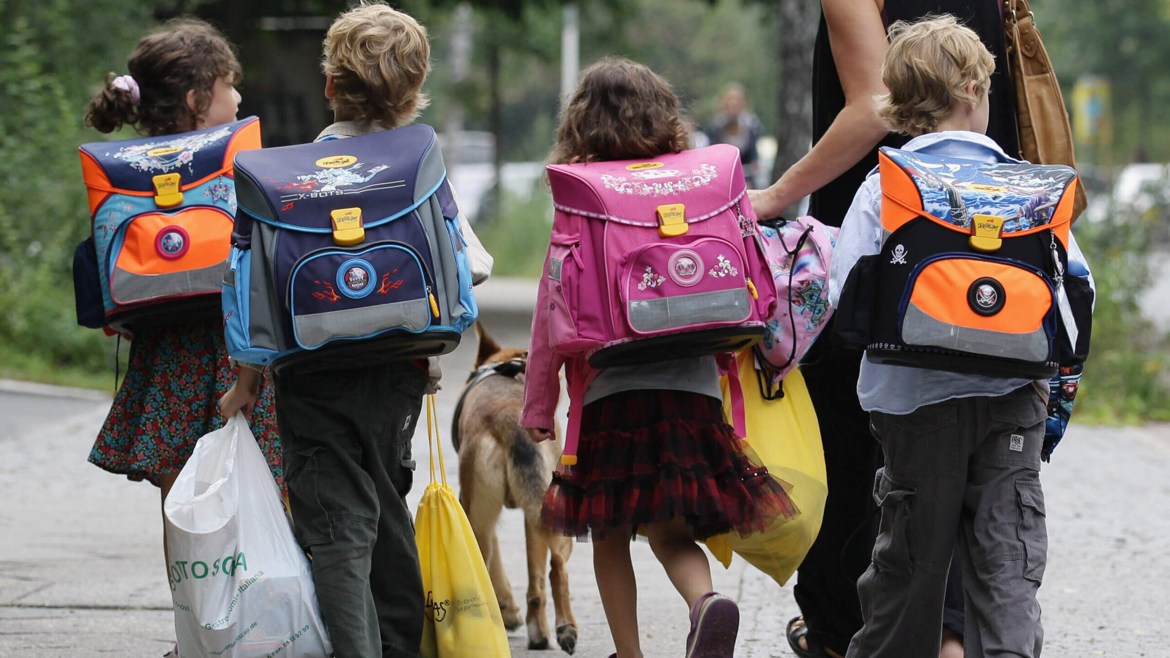
<path id="1" fill-rule="evenodd" d="M 808 152 L 812 144 L 812 52 L 820 20 L 819 0 L 778 0 L 780 43 L 779 117 L 772 180 Z M 784 210 L 796 217 L 799 201 Z"/>

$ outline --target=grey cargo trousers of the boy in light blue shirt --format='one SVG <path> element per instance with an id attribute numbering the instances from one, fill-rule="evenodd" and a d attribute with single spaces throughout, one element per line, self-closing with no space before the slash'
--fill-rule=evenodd
<path id="1" fill-rule="evenodd" d="M 966 656 L 1037 658 L 1035 601 L 1048 548 L 1040 491 L 1045 402 L 1032 385 L 875 412 L 886 454 L 874 498 L 881 529 L 858 581 L 865 625 L 847 658 L 936 658 L 956 539 Z"/>

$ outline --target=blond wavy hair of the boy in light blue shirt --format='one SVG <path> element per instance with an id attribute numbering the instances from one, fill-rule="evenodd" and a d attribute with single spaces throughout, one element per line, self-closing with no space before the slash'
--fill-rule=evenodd
<path id="1" fill-rule="evenodd" d="M 950 15 L 889 26 L 881 66 L 888 94 L 874 97 L 878 116 L 896 132 L 932 132 L 965 103 L 978 104 L 991 85 L 996 60 L 971 28 Z M 976 81 L 975 94 L 966 90 Z"/>

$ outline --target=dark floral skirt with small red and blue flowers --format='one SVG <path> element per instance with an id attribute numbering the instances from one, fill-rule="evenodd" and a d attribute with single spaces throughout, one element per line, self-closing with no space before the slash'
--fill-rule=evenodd
<path id="1" fill-rule="evenodd" d="M 183 469 L 195 441 L 223 426 L 219 398 L 235 381 L 219 320 L 136 334 L 130 365 L 89 460 L 131 480 L 159 484 Z M 273 386 L 261 381 L 252 432 L 283 489 Z"/>

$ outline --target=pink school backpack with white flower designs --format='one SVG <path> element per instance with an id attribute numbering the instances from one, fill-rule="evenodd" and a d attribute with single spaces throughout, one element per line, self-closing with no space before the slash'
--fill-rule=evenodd
<path id="1" fill-rule="evenodd" d="M 591 368 L 734 352 L 777 303 L 739 152 L 550 165 L 549 344 Z M 587 382 L 569 382 L 565 462 Z M 742 427 L 742 424 L 737 424 Z"/>

